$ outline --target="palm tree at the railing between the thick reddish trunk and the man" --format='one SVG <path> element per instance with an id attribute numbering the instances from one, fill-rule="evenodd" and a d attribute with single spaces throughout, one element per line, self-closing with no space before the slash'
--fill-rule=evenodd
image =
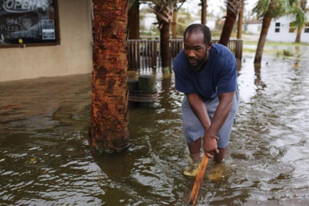
<path id="1" fill-rule="evenodd" d="M 153 0 L 152 9 L 157 16 L 160 30 L 160 53 L 162 69 L 171 68 L 170 24 L 173 11 L 182 6 L 185 0 Z M 179 5 L 179 6 L 177 6 Z"/>

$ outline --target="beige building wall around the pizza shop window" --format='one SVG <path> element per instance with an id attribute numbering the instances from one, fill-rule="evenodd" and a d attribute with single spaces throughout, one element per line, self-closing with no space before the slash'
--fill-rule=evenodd
<path id="1" fill-rule="evenodd" d="M 60 45 L 0 48 L 0 81 L 92 71 L 91 1 L 58 0 Z"/>

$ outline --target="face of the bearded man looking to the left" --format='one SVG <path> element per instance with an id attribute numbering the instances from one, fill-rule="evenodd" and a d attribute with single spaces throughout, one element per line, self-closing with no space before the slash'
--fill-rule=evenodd
<path id="1" fill-rule="evenodd" d="M 202 64 L 208 60 L 208 50 L 211 48 L 211 43 L 205 45 L 204 33 L 188 32 L 184 39 L 184 54 L 189 65 L 197 71 L 200 71 Z"/>

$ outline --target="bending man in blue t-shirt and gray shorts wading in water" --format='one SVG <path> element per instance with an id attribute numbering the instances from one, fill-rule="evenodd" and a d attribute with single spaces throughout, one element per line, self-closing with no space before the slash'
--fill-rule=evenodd
<path id="1" fill-rule="evenodd" d="M 207 26 L 188 26 L 184 49 L 173 64 L 175 87 L 185 94 L 181 114 L 192 158 L 185 175 L 197 175 L 201 136 L 207 157 L 217 162 L 224 158 L 239 107 L 236 68 L 234 55 L 225 46 L 212 43 Z"/>

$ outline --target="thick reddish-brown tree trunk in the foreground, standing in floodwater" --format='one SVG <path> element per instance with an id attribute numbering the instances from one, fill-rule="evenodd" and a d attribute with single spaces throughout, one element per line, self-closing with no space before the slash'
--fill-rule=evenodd
<path id="1" fill-rule="evenodd" d="M 99 152 L 128 146 L 127 0 L 93 0 L 93 72 L 89 145 Z"/>

